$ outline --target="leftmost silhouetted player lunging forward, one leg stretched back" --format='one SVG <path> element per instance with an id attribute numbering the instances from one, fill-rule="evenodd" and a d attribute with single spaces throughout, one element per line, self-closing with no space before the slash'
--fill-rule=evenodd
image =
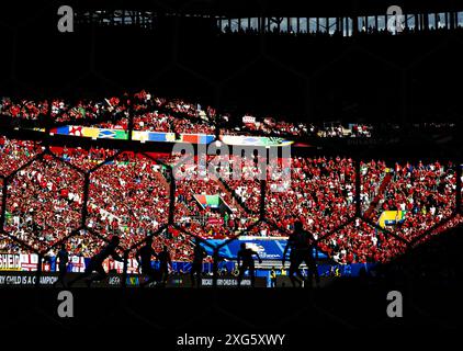
<path id="1" fill-rule="evenodd" d="M 103 262 L 106 260 L 110 256 L 120 262 L 123 262 L 124 260 L 118 256 L 116 252 L 116 248 L 120 244 L 121 239 L 116 236 L 113 236 L 111 238 L 111 241 L 95 256 L 93 256 L 90 260 L 89 265 L 86 268 L 86 271 L 78 278 L 76 278 L 74 281 L 69 283 L 69 286 L 74 285 L 76 282 L 86 279 L 90 276 L 93 272 L 97 272 L 98 274 L 94 275 L 91 279 L 86 280 L 87 286 L 90 287 L 91 283 L 94 281 L 102 281 L 108 276 L 108 273 L 104 271 Z"/>

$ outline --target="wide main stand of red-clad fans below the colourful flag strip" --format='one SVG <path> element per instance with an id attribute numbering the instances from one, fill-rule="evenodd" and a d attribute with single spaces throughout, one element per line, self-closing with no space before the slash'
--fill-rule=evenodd
<path id="1" fill-rule="evenodd" d="M 204 173 L 215 161 L 0 137 L 0 251 L 55 252 L 65 242 L 88 257 L 114 234 L 124 249 L 156 234 L 181 261 L 192 236 L 285 237 L 302 220 L 338 262 L 388 261 L 462 222 L 461 168 L 451 162 L 293 156 L 271 161 L 262 179 L 246 157 Z M 230 179 L 238 162 L 246 177 Z"/>

